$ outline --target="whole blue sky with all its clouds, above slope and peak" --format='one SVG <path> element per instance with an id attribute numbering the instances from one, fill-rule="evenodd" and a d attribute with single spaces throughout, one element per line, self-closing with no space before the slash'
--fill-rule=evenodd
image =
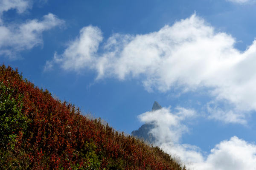
<path id="1" fill-rule="evenodd" d="M 255 7 L 0 0 L 0 59 L 116 130 L 155 121 L 156 145 L 194 169 L 255 169 Z"/>

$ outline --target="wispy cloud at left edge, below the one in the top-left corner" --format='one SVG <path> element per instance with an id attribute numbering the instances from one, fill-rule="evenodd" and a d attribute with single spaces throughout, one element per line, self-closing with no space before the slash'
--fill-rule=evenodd
<path id="1" fill-rule="evenodd" d="M 42 20 L 0 26 L 0 55 L 15 58 L 18 51 L 31 49 L 43 43 L 42 32 L 60 26 L 64 21 L 54 14 L 44 15 Z"/>

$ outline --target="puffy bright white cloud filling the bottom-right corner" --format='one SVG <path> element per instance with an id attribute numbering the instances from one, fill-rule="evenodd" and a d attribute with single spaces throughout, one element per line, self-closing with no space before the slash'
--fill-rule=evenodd
<path id="1" fill-rule="evenodd" d="M 256 170 L 256 145 L 234 136 L 217 144 L 196 170 Z"/>

